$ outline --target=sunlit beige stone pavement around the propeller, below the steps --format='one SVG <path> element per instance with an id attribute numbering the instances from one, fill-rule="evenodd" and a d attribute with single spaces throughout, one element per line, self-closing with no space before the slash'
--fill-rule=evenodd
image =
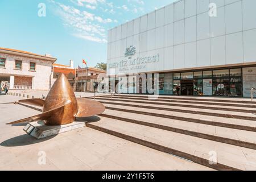
<path id="1" fill-rule="evenodd" d="M 1 104 L 19 99 L 0 96 L 0 170 L 212 170 L 89 127 L 36 140 L 23 131 L 26 123 L 5 124 L 40 113 Z M 41 165 L 44 156 L 46 164 Z"/>

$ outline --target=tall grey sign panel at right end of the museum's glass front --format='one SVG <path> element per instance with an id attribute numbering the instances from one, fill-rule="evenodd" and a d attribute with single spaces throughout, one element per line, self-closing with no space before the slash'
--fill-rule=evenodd
<path id="1" fill-rule="evenodd" d="M 256 88 L 256 67 L 243 68 L 243 97 L 251 97 L 252 87 Z"/>

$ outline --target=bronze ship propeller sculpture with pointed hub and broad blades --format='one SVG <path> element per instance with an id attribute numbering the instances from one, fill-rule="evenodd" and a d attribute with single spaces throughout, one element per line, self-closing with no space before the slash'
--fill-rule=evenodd
<path id="1" fill-rule="evenodd" d="M 73 123 L 76 118 L 90 117 L 105 111 L 105 106 L 100 102 L 87 98 L 76 98 L 73 88 L 64 74 L 57 78 L 46 100 L 35 98 L 18 102 L 42 106 L 43 113 L 7 123 L 7 125 L 34 121 L 44 121 L 49 126 L 67 125 Z"/>

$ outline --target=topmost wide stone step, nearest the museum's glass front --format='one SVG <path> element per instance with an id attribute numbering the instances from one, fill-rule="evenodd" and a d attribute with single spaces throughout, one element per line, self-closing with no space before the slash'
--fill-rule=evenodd
<path id="1" fill-rule="evenodd" d="M 155 97 L 154 95 L 143 94 L 115 94 L 114 97 L 134 97 L 134 98 L 148 98 Z M 256 101 L 251 101 L 250 98 L 236 98 L 236 97 L 191 97 L 191 96 L 158 96 L 159 99 L 172 100 L 187 100 L 187 101 L 210 101 L 210 102 L 238 102 L 243 104 L 256 104 Z"/>

